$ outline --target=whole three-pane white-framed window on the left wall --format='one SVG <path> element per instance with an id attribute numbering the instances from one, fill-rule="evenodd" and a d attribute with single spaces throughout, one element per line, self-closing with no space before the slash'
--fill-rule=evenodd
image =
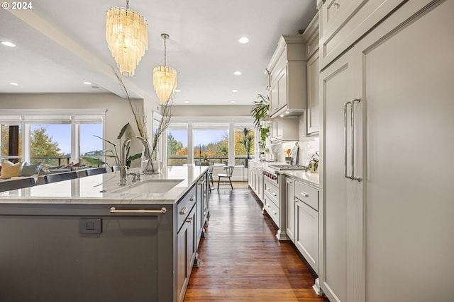
<path id="1" fill-rule="evenodd" d="M 81 154 L 103 149 L 105 112 L 2 110 L 1 158 L 46 165 L 75 163 Z"/>

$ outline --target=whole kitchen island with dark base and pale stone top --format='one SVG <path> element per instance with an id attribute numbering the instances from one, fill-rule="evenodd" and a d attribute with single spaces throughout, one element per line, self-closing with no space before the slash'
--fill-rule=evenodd
<path id="1" fill-rule="evenodd" d="M 182 301 L 208 216 L 206 167 L 0 193 L 0 301 Z"/>

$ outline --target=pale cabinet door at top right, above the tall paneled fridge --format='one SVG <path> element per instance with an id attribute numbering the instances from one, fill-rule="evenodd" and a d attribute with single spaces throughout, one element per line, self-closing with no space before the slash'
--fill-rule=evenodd
<path id="1" fill-rule="evenodd" d="M 403 0 L 326 0 L 320 13 L 320 66 L 325 68 Z M 319 4 L 320 1 L 319 1 Z"/>

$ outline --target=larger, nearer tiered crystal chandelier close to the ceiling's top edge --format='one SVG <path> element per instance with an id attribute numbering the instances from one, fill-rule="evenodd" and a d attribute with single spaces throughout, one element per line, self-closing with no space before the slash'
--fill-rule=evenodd
<path id="1" fill-rule="evenodd" d="M 148 25 L 137 11 L 114 7 L 106 13 L 106 40 L 123 76 L 133 76 L 135 67 L 148 50 Z"/>

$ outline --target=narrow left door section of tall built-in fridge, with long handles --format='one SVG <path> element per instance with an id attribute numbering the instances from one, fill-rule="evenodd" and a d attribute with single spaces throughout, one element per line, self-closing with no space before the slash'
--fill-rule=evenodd
<path id="1" fill-rule="evenodd" d="M 362 182 L 345 178 L 362 175 L 362 103 L 360 58 L 352 52 L 321 73 L 321 252 L 319 279 L 330 301 L 362 301 Z M 354 112 L 352 114 L 352 105 Z M 352 119 L 356 125 L 352 140 Z M 346 124 L 347 141 L 344 140 Z M 355 144 L 353 144 L 355 143 Z M 352 149 L 354 147 L 354 149 Z M 352 150 L 354 158 L 352 161 Z M 353 163 L 353 165 L 352 165 Z"/>

